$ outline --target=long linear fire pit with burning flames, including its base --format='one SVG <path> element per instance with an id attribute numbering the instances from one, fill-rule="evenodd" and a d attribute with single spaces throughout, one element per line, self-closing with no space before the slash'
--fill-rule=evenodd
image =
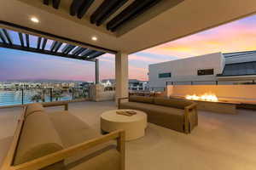
<path id="1" fill-rule="evenodd" d="M 197 105 L 197 109 L 201 111 L 212 111 L 218 113 L 226 113 L 226 114 L 236 114 L 236 105 L 240 105 L 240 102 L 236 101 L 228 101 L 224 99 L 218 99 L 214 95 L 207 95 L 196 96 L 194 95 L 187 95 L 186 97 L 183 96 L 170 96 L 172 99 L 187 99 L 195 101 Z"/>

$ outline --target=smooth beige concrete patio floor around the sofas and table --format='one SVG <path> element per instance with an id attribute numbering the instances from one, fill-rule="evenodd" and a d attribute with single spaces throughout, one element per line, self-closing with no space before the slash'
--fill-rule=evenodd
<path id="1" fill-rule="evenodd" d="M 115 108 L 113 102 L 80 102 L 71 103 L 69 111 L 99 130 L 101 113 Z M 0 164 L 21 111 L 0 110 Z M 148 123 L 145 137 L 126 143 L 126 170 L 137 169 L 254 170 L 256 111 L 239 110 L 237 115 L 199 111 L 199 126 L 190 134 Z"/>

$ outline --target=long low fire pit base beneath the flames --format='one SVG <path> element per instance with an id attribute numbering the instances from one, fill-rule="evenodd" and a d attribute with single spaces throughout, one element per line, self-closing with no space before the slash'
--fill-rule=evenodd
<path id="1" fill-rule="evenodd" d="M 183 97 L 174 97 L 171 96 L 171 99 L 184 99 Z M 189 100 L 189 99 L 187 99 Z M 224 114 L 236 114 L 236 105 L 239 105 L 237 102 L 226 102 L 226 101 L 201 101 L 201 100 L 193 100 L 196 102 L 197 109 L 201 111 L 212 111 L 217 113 L 224 113 Z"/>

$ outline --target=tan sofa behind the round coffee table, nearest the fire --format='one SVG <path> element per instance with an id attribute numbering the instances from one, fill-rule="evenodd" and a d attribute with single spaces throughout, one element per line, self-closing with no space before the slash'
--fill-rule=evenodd
<path id="1" fill-rule="evenodd" d="M 119 99 L 119 109 L 144 111 L 148 122 L 182 133 L 190 133 L 198 124 L 196 104 L 181 99 L 166 99 L 131 95 L 128 101 Z"/>

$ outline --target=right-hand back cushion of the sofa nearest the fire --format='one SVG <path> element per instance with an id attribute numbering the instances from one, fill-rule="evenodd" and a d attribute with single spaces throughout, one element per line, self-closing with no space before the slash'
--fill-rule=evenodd
<path id="1" fill-rule="evenodd" d="M 193 102 L 182 99 L 154 98 L 154 104 L 184 109 L 186 106 L 193 104 Z"/>

